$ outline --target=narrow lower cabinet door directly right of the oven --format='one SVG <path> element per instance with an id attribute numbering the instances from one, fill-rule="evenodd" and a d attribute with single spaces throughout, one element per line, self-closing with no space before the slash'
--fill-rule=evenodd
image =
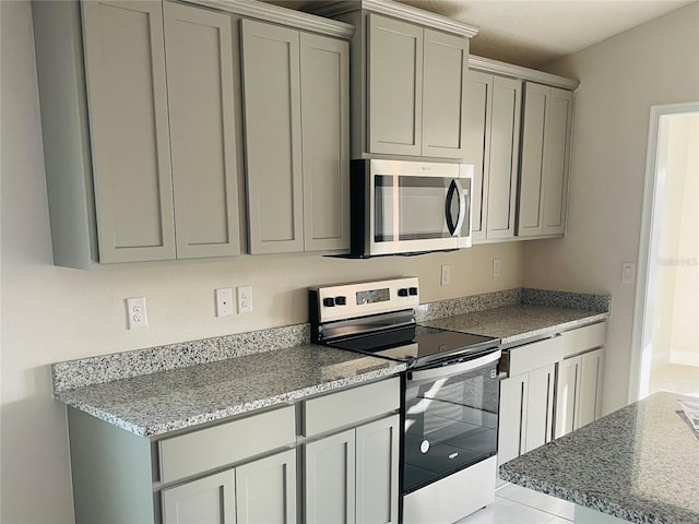
<path id="1" fill-rule="evenodd" d="M 528 373 L 500 381 L 498 465 L 524 452 L 529 395 Z"/>

